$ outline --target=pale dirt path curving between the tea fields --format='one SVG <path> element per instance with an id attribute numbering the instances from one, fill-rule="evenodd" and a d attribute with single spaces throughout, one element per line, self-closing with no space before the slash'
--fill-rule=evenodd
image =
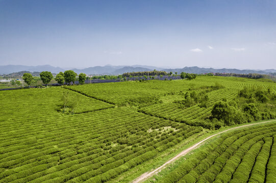
<path id="1" fill-rule="evenodd" d="M 227 131 L 230 131 L 230 130 L 234 130 L 234 129 L 238 129 L 238 128 L 242 128 L 242 127 L 247 127 L 247 126 L 252 126 L 252 125 L 256 125 L 256 124 L 262 124 L 262 123 L 268 123 L 270 121 L 275 121 L 275 120 L 268 120 L 268 121 L 263 121 L 263 122 L 260 122 L 260 123 L 255 123 L 255 124 L 248 124 L 248 125 L 243 125 L 243 126 L 239 126 L 239 127 L 234 127 L 234 128 L 231 128 L 231 129 L 228 129 L 228 130 L 224 130 L 222 132 L 219 132 L 217 134 L 214 134 L 214 135 L 211 135 L 205 139 L 203 139 L 202 141 L 194 144 L 193 146 L 181 151 L 180 154 L 178 154 L 177 156 L 173 157 L 172 159 L 170 159 L 169 161 L 167 161 L 166 163 L 164 163 L 162 166 L 156 168 L 155 170 L 153 171 L 150 171 L 150 172 L 146 172 L 144 174 L 142 174 L 141 176 L 137 177 L 136 179 L 134 179 L 132 181 L 132 183 L 138 183 L 138 182 L 142 182 L 142 181 L 145 181 L 146 179 L 148 179 L 149 177 L 157 174 L 159 171 L 161 171 L 162 169 L 164 169 L 168 164 L 172 163 L 173 161 L 177 160 L 178 158 L 184 156 L 184 155 L 187 155 L 191 150 L 197 148 L 200 144 L 202 144 L 203 142 L 205 142 L 206 140 L 216 136 L 216 135 L 219 135 L 219 134 L 222 134 L 224 132 L 227 132 Z"/>

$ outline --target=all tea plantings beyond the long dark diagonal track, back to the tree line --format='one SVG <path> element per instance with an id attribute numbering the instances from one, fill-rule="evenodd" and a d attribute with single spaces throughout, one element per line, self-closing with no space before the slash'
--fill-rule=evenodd
<path id="1" fill-rule="evenodd" d="M 219 85 L 216 86 L 216 83 L 219 83 Z M 218 88 L 214 89 L 213 86 Z M 193 104 L 183 107 L 181 101 L 184 100 L 185 95 L 179 95 L 180 93 L 185 94 L 191 91 L 199 93 L 202 90 L 208 90 L 208 87 L 209 89 L 213 87 L 212 92 L 205 94 L 209 99 L 208 105 Z M 208 123 L 202 124 L 198 121 L 205 120 L 211 115 L 211 110 L 216 102 L 221 100 L 231 101 L 237 98 L 239 90 L 244 87 L 276 91 L 273 82 L 235 77 L 197 77 L 196 80 L 191 81 L 129 81 L 107 83 L 105 85 L 94 84 L 91 87 L 90 85 L 69 86 L 68 88 L 118 106 L 135 106 L 138 111 L 148 115 L 183 122 L 192 126 L 213 128 Z M 122 90 L 127 92 L 122 95 Z"/>

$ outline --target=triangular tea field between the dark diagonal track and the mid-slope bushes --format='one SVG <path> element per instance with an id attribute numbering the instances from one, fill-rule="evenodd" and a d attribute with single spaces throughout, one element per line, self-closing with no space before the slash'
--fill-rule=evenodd
<path id="1" fill-rule="evenodd" d="M 162 84 L 161 84 L 162 82 Z M 171 87 L 171 84 L 173 87 Z M 81 92 L 90 97 L 99 100 L 107 101 L 116 105 L 123 105 L 127 100 L 138 97 L 152 97 L 164 95 L 177 88 L 185 89 L 187 86 L 179 81 L 148 81 L 148 82 L 118 82 L 118 83 L 103 83 L 83 85 L 83 86 L 67 86 L 70 89 Z"/>

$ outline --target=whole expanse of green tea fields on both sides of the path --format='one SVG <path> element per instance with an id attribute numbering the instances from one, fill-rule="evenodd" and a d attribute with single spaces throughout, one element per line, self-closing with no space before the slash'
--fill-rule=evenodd
<path id="1" fill-rule="evenodd" d="M 259 102 L 258 96 L 256 101 L 245 95 L 238 97 L 244 88 L 248 88 L 250 95 L 251 88 L 261 90 L 266 101 Z M 221 128 L 237 124 L 232 120 L 227 124 L 228 119 L 208 118 L 217 102 L 227 101 L 231 107 L 254 104 L 258 115 L 243 112 L 252 119 L 246 123 L 266 120 L 276 115 L 275 92 L 273 82 L 235 77 L 2 91 L 0 182 L 130 181 L 152 168 L 147 166 L 148 162 L 158 165 L 183 145 L 215 131 L 218 127 L 214 124 Z M 191 102 L 185 103 L 187 93 L 197 96 L 196 100 L 190 97 Z M 208 100 L 204 101 L 202 96 L 208 96 Z M 73 111 L 63 110 L 64 98 L 73 101 Z M 185 182 L 190 178 L 194 182 L 219 182 L 219 178 L 225 178 L 235 182 L 243 177 L 240 173 L 247 173 L 254 181 L 258 168 L 262 177 L 265 174 L 269 180 L 273 178 L 269 178 L 273 174 L 269 172 L 275 168 L 269 163 L 275 156 L 269 153 L 275 151 L 275 130 L 271 123 L 221 135 L 187 161 L 189 168 L 181 169 L 187 165 L 183 161 L 159 181 Z M 263 159 L 267 160 L 268 155 L 271 161 L 264 165 Z M 244 166 L 237 162 L 232 165 L 236 159 L 242 159 L 240 164 L 248 167 L 241 168 Z M 137 167 L 138 174 L 128 173 Z M 228 175 L 229 172 L 232 174 Z M 174 174 L 178 175 L 175 180 L 171 178 Z"/>

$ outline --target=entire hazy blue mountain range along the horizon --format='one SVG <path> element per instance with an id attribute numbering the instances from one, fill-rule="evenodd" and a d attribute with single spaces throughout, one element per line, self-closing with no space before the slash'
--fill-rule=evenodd
<path id="1" fill-rule="evenodd" d="M 258 73 L 258 74 L 269 74 L 269 73 L 276 73 L 275 69 L 266 69 L 266 70 L 239 70 L 239 69 L 213 69 L 213 68 L 199 68 L 199 67 L 184 67 L 180 69 L 166 69 L 166 68 L 159 68 L 154 66 L 141 66 L 141 65 L 133 65 L 133 66 L 96 66 L 96 67 L 89 67 L 85 69 L 71 69 L 74 72 L 80 74 L 91 74 L 91 75 L 99 75 L 99 74 L 123 74 L 127 72 L 140 72 L 140 71 L 166 71 L 172 73 L 195 73 L 195 74 L 202 74 L 202 73 L 236 73 L 236 74 L 249 74 L 249 73 Z M 0 74 L 10 74 L 20 71 L 30 71 L 30 72 L 42 72 L 42 71 L 50 71 L 52 73 L 59 73 L 64 72 L 65 69 L 60 67 L 53 67 L 50 65 L 43 65 L 43 66 L 22 66 L 22 65 L 7 65 L 7 66 L 0 66 Z"/>

